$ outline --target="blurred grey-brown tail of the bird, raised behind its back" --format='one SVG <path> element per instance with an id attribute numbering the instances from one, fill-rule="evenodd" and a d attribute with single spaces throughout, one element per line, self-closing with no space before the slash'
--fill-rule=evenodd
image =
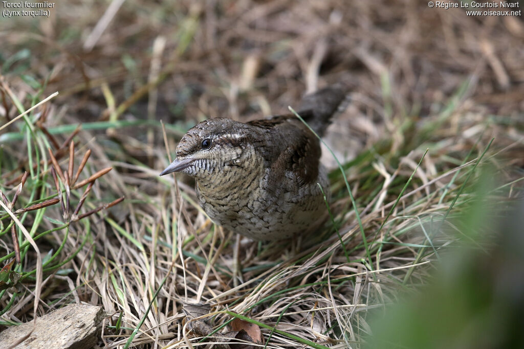
<path id="1" fill-rule="evenodd" d="M 298 107 L 298 114 L 319 136 L 323 136 L 331 123 L 331 117 L 347 106 L 350 87 L 339 83 L 305 95 Z"/>

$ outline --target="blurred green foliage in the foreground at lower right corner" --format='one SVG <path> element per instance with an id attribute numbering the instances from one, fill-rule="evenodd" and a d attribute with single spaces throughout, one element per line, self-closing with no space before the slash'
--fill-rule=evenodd
<path id="1" fill-rule="evenodd" d="M 368 348 L 523 348 L 524 200 L 498 201 L 484 171 L 438 272 L 377 311 Z"/>

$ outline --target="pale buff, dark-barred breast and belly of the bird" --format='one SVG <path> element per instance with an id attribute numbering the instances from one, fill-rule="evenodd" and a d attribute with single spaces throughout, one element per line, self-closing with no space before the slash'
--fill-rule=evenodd
<path id="1" fill-rule="evenodd" d="M 264 170 L 263 167 L 260 168 Z M 260 172 L 225 175 L 229 181 L 203 186 L 197 181 L 196 192 L 207 215 L 226 229 L 255 240 L 276 240 L 306 233 L 325 212 L 320 183 L 329 193 L 325 171 L 318 181 L 297 191 L 268 190 Z M 283 179 L 283 178 L 282 178 Z"/>

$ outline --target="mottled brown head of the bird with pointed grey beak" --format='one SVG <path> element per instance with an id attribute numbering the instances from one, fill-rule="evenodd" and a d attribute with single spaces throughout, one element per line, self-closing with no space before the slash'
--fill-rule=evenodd
<path id="1" fill-rule="evenodd" d="M 225 118 L 202 121 L 184 134 L 177 146 L 177 158 L 160 174 L 182 172 L 196 179 L 212 181 L 217 174 L 244 167 L 249 130 L 242 122 Z"/>

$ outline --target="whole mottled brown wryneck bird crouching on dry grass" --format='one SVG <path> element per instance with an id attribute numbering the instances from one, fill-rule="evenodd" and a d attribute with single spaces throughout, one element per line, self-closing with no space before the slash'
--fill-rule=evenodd
<path id="1" fill-rule="evenodd" d="M 315 133 L 322 136 L 346 95 L 344 84 L 305 95 L 297 110 L 309 127 L 292 113 L 248 122 L 202 121 L 184 134 L 176 159 L 160 175 L 194 177 L 198 201 L 211 220 L 250 239 L 309 234 L 326 217 L 324 194 L 330 198 Z"/>

